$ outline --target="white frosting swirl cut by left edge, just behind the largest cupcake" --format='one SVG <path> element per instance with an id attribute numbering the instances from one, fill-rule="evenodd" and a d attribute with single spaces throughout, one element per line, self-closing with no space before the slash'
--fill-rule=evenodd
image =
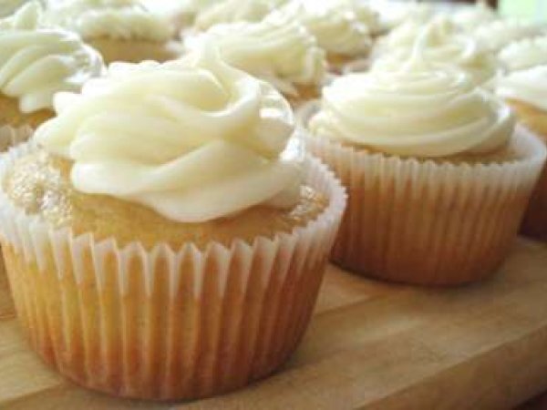
<path id="1" fill-rule="evenodd" d="M 29 3 L 0 22 L 0 91 L 24 113 L 53 108 L 55 93 L 77 91 L 103 70 L 97 51 L 75 34 L 41 28 L 40 14 Z"/>

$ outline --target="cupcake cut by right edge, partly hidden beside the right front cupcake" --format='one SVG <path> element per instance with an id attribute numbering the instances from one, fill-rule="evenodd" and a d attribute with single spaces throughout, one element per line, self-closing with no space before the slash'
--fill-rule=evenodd
<path id="1" fill-rule="evenodd" d="M 547 144 L 547 65 L 511 73 L 501 79 L 497 92 L 511 105 L 521 124 Z M 522 231 L 547 241 L 547 169 L 543 169 L 534 190 Z"/>

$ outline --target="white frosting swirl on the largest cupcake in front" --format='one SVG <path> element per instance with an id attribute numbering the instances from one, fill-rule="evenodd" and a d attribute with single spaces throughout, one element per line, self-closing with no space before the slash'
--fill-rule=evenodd
<path id="1" fill-rule="evenodd" d="M 300 153 L 286 149 L 288 102 L 211 47 L 164 64 L 112 64 L 81 94 L 59 95 L 56 109 L 36 141 L 74 161 L 77 190 L 181 222 L 294 205 Z"/>

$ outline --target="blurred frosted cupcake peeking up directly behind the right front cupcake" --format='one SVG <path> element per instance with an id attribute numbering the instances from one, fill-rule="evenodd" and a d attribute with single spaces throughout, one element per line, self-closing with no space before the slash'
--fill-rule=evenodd
<path id="1" fill-rule="evenodd" d="M 397 69 L 415 55 L 433 65 L 457 67 L 467 72 L 476 85 L 491 85 L 500 72 L 496 56 L 472 37 L 459 33 L 447 17 L 428 23 L 408 46 L 388 51 L 373 61 L 373 70 Z"/>

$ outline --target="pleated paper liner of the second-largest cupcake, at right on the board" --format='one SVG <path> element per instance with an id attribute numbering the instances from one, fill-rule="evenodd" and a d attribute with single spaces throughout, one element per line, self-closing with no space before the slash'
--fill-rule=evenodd
<path id="1" fill-rule="evenodd" d="M 317 104 L 298 113 L 307 124 Z M 376 278 L 428 285 L 478 281 L 511 249 L 546 150 L 523 128 L 511 139 L 519 160 L 499 164 L 400 159 L 305 138 L 335 170 L 348 206 L 333 260 Z"/>

